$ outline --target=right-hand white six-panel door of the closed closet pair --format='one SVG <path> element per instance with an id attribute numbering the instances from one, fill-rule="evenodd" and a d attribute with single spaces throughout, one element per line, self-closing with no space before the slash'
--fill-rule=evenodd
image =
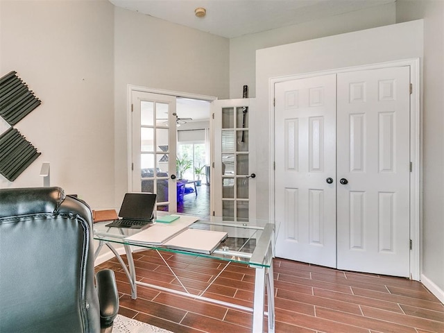
<path id="1" fill-rule="evenodd" d="M 338 74 L 338 268 L 409 276 L 409 73 Z"/>

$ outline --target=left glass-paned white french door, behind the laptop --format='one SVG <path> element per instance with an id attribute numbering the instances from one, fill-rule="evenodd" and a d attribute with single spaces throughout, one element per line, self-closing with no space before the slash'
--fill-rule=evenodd
<path id="1" fill-rule="evenodd" d="M 176 97 L 132 92 L 132 190 L 157 194 L 157 210 L 177 212 Z"/>

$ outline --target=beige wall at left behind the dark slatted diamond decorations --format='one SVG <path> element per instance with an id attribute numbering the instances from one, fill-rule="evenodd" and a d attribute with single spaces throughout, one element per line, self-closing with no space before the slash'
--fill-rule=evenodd
<path id="1" fill-rule="evenodd" d="M 113 12 L 108 1 L 0 1 L 0 76 L 17 71 L 42 105 L 15 126 L 42 155 L 15 182 L 114 203 Z"/>

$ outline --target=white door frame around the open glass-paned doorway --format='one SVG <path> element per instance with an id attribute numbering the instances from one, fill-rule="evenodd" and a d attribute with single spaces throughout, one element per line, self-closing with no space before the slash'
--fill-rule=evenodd
<path id="1" fill-rule="evenodd" d="M 200 99 L 202 101 L 216 101 L 218 99 L 216 96 L 208 96 L 208 95 L 199 95 L 199 94 L 191 94 L 188 92 L 176 92 L 174 90 L 164 90 L 164 89 L 155 89 L 150 87 L 142 87 L 139 85 L 128 85 L 127 91 L 126 91 L 126 123 L 127 123 L 127 139 L 128 139 L 128 155 L 127 155 L 127 187 L 128 191 L 133 190 L 133 171 L 131 170 L 131 162 L 133 157 L 133 123 L 131 121 L 131 105 L 132 105 L 132 96 L 133 92 L 146 92 L 149 94 L 160 94 L 160 95 L 167 95 L 167 96 L 176 96 L 178 98 L 184 98 L 184 99 Z M 210 114 L 210 130 L 212 131 L 213 126 L 213 119 Z M 210 165 L 212 165 L 212 162 L 214 161 L 214 139 L 213 137 L 210 137 Z M 210 183 L 212 183 L 212 177 L 213 173 L 210 173 Z M 214 203 L 213 200 L 210 198 L 210 212 L 214 209 L 213 207 Z"/>

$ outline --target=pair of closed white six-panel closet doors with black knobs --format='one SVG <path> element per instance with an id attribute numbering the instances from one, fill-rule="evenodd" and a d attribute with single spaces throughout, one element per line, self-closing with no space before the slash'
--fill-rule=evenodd
<path id="1" fill-rule="evenodd" d="M 275 83 L 278 257 L 409 276 L 409 73 Z"/>

